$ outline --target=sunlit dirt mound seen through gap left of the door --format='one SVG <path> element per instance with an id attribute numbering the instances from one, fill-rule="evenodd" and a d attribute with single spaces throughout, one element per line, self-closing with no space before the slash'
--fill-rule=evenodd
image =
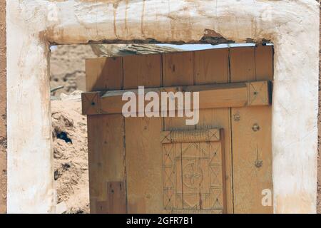
<path id="1" fill-rule="evenodd" d="M 89 212 L 87 124 L 79 100 L 72 93 L 51 102 L 54 178 L 66 213 Z"/>

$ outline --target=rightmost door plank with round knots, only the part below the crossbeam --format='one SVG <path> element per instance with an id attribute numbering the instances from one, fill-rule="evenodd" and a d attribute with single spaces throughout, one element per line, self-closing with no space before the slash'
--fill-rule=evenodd
<path id="1" fill-rule="evenodd" d="M 272 213 L 263 207 L 262 191 L 272 191 L 270 107 L 233 108 L 235 213 Z"/>

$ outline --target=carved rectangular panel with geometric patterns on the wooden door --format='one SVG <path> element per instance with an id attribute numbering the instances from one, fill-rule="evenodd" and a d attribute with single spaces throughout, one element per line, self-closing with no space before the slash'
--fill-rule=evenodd
<path id="1" fill-rule="evenodd" d="M 225 186 L 223 181 L 223 130 L 202 130 L 203 138 L 195 142 L 193 131 L 163 132 L 163 195 L 165 209 L 216 209 L 223 212 Z M 183 133 L 185 132 L 185 133 Z M 198 130 L 200 133 L 200 130 Z M 180 142 L 170 142 L 170 135 L 189 135 Z M 195 138 L 200 140 L 199 134 Z M 212 141 L 210 141 L 210 140 Z"/>

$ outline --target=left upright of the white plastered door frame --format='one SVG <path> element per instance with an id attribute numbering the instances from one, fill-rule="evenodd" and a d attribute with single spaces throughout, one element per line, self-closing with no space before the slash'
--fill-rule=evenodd
<path id="1" fill-rule="evenodd" d="M 7 1 L 7 9 L 7 212 L 53 212 L 49 46 L 39 39 L 43 13 L 36 16 L 34 7 L 19 1 Z"/>

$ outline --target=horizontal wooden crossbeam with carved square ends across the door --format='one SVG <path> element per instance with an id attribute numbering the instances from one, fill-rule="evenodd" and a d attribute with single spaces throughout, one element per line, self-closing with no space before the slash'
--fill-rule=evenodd
<path id="1" fill-rule="evenodd" d="M 254 81 L 245 83 L 211 84 L 203 86 L 174 86 L 164 88 L 146 88 L 144 93 L 150 91 L 161 92 L 199 92 L 199 109 L 229 108 L 253 105 L 270 105 L 271 82 Z M 125 92 L 133 92 L 138 95 L 138 90 L 111 90 L 97 91 L 81 94 L 83 115 L 116 114 L 122 113 L 122 108 L 127 100 L 122 100 Z M 145 101 L 145 105 L 150 101 Z M 136 102 L 138 104 L 138 100 Z M 191 108 L 193 108 L 193 95 L 191 96 Z M 175 110 L 181 110 L 175 105 Z M 138 110 L 138 108 L 136 108 Z M 160 100 L 161 110 L 161 100 Z M 170 107 L 168 107 L 170 110 Z"/>

